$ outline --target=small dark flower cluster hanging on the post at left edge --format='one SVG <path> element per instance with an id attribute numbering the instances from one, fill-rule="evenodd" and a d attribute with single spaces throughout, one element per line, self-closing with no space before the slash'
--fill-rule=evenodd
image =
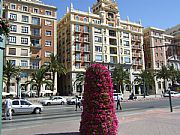
<path id="1" fill-rule="evenodd" d="M 9 28 L 9 22 L 6 19 L 0 18 L 0 34 L 4 34 L 5 36 L 8 36 L 10 32 Z"/>

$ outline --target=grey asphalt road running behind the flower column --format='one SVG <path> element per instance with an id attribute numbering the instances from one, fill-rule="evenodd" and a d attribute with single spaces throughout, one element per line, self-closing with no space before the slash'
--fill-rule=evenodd
<path id="1" fill-rule="evenodd" d="M 174 98 L 173 107 L 178 108 L 180 106 L 180 98 Z M 160 100 L 150 101 L 129 101 L 123 102 L 122 115 L 131 115 L 132 113 L 140 113 L 147 110 L 158 108 L 169 108 L 168 98 Z M 74 111 L 74 105 L 56 105 L 45 106 L 42 114 L 30 114 L 30 115 L 16 115 L 13 120 L 2 121 L 2 131 L 7 133 L 9 131 L 16 130 L 17 128 L 23 129 L 27 127 L 34 127 L 43 123 L 53 122 L 73 122 L 80 120 L 81 110 Z M 119 112 L 119 111 L 117 111 Z"/>

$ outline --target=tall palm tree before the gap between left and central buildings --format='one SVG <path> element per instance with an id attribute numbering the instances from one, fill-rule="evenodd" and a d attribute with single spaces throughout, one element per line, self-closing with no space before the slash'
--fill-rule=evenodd
<path id="1" fill-rule="evenodd" d="M 51 90 L 54 90 L 54 81 L 55 81 L 55 74 L 58 75 L 65 75 L 67 73 L 67 69 L 65 68 L 64 64 L 59 62 L 59 58 L 57 55 L 54 56 L 54 53 L 50 55 L 50 63 L 47 65 L 48 71 L 52 73 L 52 87 Z"/>

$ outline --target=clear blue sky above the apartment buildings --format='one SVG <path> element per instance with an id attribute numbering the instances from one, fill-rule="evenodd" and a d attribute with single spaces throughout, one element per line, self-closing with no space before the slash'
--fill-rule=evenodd
<path id="1" fill-rule="evenodd" d="M 88 11 L 97 0 L 42 0 L 58 8 L 57 19 L 66 13 L 73 3 L 74 9 Z M 122 20 L 128 16 L 131 22 L 141 19 L 144 27 L 171 28 L 180 24 L 180 0 L 116 0 Z"/>

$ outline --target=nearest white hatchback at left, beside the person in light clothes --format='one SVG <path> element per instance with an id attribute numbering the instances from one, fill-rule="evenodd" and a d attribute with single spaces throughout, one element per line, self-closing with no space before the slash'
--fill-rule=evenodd
<path id="1" fill-rule="evenodd" d="M 42 111 L 43 111 L 43 106 L 41 104 L 33 104 L 26 99 L 12 100 L 12 113 L 13 114 L 20 114 L 20 113 L 40 114 Z"/>

